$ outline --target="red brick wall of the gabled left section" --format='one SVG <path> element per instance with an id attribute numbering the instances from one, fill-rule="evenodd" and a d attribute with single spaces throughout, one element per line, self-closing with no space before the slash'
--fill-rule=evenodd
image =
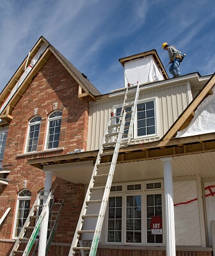
<path id="1" fill-rule="evenodd" d="M 88 102 L 79 100 L 77 93 L 78 84 L 76 80 L 52 55 L 13 110 L 13 120 L 9 126 L 3 159 L 3 166 L 7 166 L 6 168 L 11 171 L 8 175 L 10 182 L 8 186 L 0 188 L 0 216 L 8 207 L 11 207 L 11 211 L 0 226 L 0 239 L 12 239 L 19 191 L 24 189 L 24 186 L 31 191 L 32 205 L 38 191 L 44 188 L 44 173 L 33 166 L 29 166 L 28 159 L 67 154 L 75 148 L 86 150 Z M 56 104 L 56 102 L 58 103 Z M 56 110 L 61 110 L 63 113 L 59 147 L 64 147 L 64 150 L 43 152 L 31 156 L 17 156 L 17 154 L 24 153 L 28 122 L 34 116 L 35 109 L 37 109 L 37 115 L 42 117 L 37 150 L 44 150 L 47 117 L 54 111 L 54 106 Z M 24 180 L 26 180 L 26 185 L 24 185 Z M 53 182 L 56 184 L 55 196 L 66 198 L 55 237 L 59 243 L 70 243 L 83 204 L 84 186 L 72 184 L 55 177 Z M 1 243 L 0 246 L 9 245 Z M 3 249 L 0 248 L 0 252 L 1 250 Z"/>

